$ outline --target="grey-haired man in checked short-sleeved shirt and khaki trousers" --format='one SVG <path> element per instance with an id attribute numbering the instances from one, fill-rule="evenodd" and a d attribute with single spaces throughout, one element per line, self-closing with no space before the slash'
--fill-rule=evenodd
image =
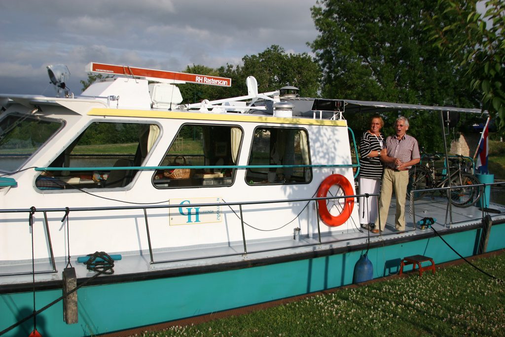
<path id="1" fill-rule="evenodd" d="M 393 189 L 396 195 L 394 224 L 398 234 L 405 231 L 405 198 L 409 184 L 409 169 L 421 160 L 416 138 L 407 134 L 409 120 L 403 116 L 398 117 L 394 123 L 394 129 L 396 135 L 387 137 L 387 151 L 383 151 L 380 156 L 381 161 L 384 162 L 384 175 L 379 201 L 380 217 L 375 221 L 375 229 L 372 230 L 374 233 L 379 232 L 378 228 L 383 231 L 386 226 Z"/>

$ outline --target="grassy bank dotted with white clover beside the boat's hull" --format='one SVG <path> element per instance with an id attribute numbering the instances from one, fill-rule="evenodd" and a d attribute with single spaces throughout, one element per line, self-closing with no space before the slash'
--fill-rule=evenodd
<path id="1" fill-rule="evenodd" d="M 473 263 L 505 279 L 505 254 Z M 244 290 L 245 291 L 245 290 Z M 222 296 L 226 296 L 223 294 Z M 464 263 L 141 336 L 503 336 L 505 287 Z"/>

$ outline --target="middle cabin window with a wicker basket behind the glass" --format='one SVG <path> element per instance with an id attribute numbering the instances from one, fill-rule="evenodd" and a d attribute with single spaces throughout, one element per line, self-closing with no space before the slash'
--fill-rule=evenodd
<path id="1" fill-rule="evenodd" d="M 177 133 L 160 166 L 237 165 L 242 129 L 228 125 L 185 124 Z M 153 184 L 158 188 L 229 186 L 236 169 L 175 168 L 158 170 Z"/>

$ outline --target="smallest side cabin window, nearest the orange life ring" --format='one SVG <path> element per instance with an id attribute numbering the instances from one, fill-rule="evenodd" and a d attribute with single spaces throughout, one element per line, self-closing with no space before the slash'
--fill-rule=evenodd
<path id="1" fill-rule="evenodd" d="M 248 165 L 310 165 L 307 130 L 296 128 L 257 128 L 252 139 Z M 250 185 L 307 183 L 310 167 L 249 168 Z"/>

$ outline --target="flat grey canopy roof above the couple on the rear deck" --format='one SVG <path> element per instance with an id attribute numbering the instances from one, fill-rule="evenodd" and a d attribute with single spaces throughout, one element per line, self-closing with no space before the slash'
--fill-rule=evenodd
<path id="1" fill-rule="evenodd" d="M 442 112 L 463 112 L 471 114 L 485 114 L 487 111 L 481 109 L 468 109 L 458 107 L 437 107 L 419 104 L 402 104 L 390 102 L 373 102 L 373 101 L 354 101 L 344 100 L 346 113 L 381 113 L 394 110 L 424 110 L 424 111 L 442 111 Z"/>

